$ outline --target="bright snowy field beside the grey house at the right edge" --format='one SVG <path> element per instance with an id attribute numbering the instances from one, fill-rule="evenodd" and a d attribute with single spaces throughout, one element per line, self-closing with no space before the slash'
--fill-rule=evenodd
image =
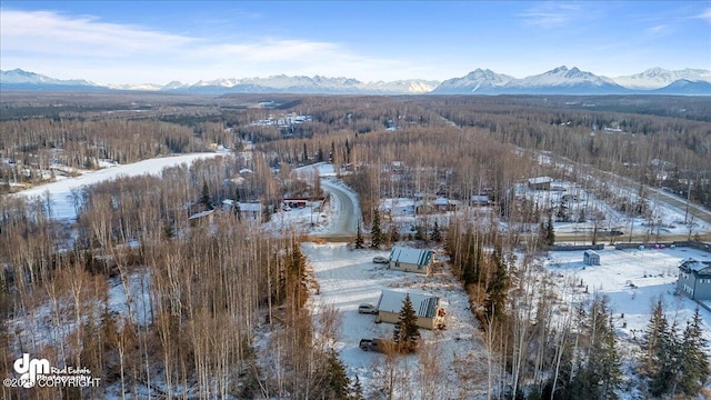
<path id="1" fill-rule="evenodd" d="M 698 306 L 674 294 L 679 262 L 687 258 L 711 260 L 710 253 L 691 248 L 615 250 L 607 247 L 598 253 L 600 266 L 584 266 L 582 251 L 550 252 L 545 267 L 558 276 L 561 287 L 570 283 L 569 288 L 561 288 L 564 289 L 561 293 L 572 293 L 573 299 L 568 300 L 575 301 L 594 292 L 605 294 L 622 340 L 640 338 L 649 322 L 652 303 L 659 298 L 669 320 L 675 319 L 683 328 Z M 588 294 L 583 293 L 585 287 Z M 701 316 L 707 328 L 711 327 L 711 312 L 701 308 Z M 711 340 L 711 329 L 705 330 L 705 339 Z"/>

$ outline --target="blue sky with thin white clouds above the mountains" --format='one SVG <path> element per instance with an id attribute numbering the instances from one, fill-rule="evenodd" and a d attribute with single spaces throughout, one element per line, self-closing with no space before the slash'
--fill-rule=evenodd
<path id="1" fill-rule="evenodd" d="M 10 1 L 0 69 L 99 83 L 711 69 L 711 1 Z"/>

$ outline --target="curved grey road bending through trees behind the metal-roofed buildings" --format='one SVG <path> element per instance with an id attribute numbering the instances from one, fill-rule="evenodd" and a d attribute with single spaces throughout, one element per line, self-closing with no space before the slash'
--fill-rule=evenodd
<path id="1" fill-rule="evenodd" d="M 360 207 L 356 193 L 350 189 L 334 183 L 329 179 L 321 179 L 321 189 L 331 194 L 331 201 L 336 202 L 337 211 L 330 231 L 318 237 L 330 241 L 351 241 L 356 237 L 358 221 L 361 220 Z"/>

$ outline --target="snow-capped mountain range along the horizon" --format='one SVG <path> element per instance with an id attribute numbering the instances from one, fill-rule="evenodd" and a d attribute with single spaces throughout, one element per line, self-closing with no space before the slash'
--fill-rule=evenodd
<path id="1" fill-rule="evenodd" d="M 59 80 L 21 69 L 0 71 L 0 88 L 18 90 L 136 90 L 186 93 L 330 93 L 330 94 L 701 94 L 711 96 L 711 71 L 651 68 L 644 72 L 607 78 L 578 68 L 559 67 L 521 79 L 489 69 L 443 82 L 410 79 L 361 82 L 352 78 L 289 77 L 230 78 L 193 84 L 172 81 L 161 86 L 98 84 L 87 80 Z"/>

